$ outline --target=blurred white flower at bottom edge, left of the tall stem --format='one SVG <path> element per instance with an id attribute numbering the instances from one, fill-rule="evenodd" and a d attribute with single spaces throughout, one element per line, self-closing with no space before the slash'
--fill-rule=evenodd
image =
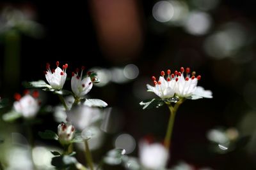
<path id="1" fill-rule="evenodd" d="M 164 169 L 168 161 L 168 150 L 161 143 L 141 141 L 139 145 L 140 162 L 143 167 L 152 170 Z"/>

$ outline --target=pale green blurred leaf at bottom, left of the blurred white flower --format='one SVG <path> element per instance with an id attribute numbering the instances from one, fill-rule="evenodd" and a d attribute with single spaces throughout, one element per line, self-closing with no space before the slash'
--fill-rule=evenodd
<path id="1" fill-rule="evenodd" d="M 122 163 L 122 158 L 125 154 L 125 150 L 122 148 L 115 148 L 113 150 L 109 150 L 104 157 L 104 162 L 109 165 L 118 165 Z"/>

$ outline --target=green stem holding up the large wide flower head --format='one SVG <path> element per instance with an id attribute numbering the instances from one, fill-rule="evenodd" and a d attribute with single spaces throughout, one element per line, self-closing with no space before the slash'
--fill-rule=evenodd
<path id="1" fill-rule="evenodd" d="M 168 127 L 167 127 L 167 131 L 166 131 L 165 138 L 164 138 L 164 146 L 166 147 L 167 150 L 170 149 L 170 145 L 171 145 L 172 131 L 173 131 L 173 125 L 175 122 L 176 112 L 177 112 L 180 104 L 183 103 L 183 101 L 184 101 L 184 99 L 180 99 L 177 103 L 175 103 L 174 106 L 172 106 L 172 104 L 170 104 L 170 103 L 166 103 L 170 110 L 170 118 L 169 118 Z"/>

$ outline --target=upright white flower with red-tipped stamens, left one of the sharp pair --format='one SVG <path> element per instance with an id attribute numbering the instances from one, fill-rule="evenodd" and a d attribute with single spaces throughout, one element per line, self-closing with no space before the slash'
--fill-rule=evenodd
<path id="1" fill-rule="evenodd" d="M 62 89 L 67 78 L 66 70 L 68 64 L 63 65 L 62 69 L 59 67 L 59 64 L 60 63 L 57 61 L 56 69 L 52 70 L 50 69 L 50 64 L 46 64 L 47 71 L 45 71 L 45 78 L 53 89 Z"/>

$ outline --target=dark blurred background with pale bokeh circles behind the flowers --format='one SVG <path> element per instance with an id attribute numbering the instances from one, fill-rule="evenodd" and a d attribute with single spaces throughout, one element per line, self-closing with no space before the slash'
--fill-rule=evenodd
<path id="1" fill-rule="evenodd" d="M 137 157 L 138 142 L 148 135 L 163 141 L 168 108 L 142 110 L 139 103 L 156 97 L 146 89 L 151 76 L 183 66 L 202 76 L 198 85 L 212 90 L 213 99 L 180 106 L 168 167 L 183 161 L 195 168 L 256 169 L 254 1 L 1 1 L 0 13 L 0 96 L 10 107 L 22 82 L 45 80 L 47 62 L 67 63 L 69 78 L 76 67 L 97 71 L 101 82 L 89 97 L 108 103 L 112 124 L 93 150 L 96 161 L 115 147 Z M 51 93 L 42 96 L 43 106 L 59 104 Z M 37 135 L 56 130 L 53 117 L 40 115 L 36 145 L 58 146 Z M 21 122 L 0 120 L 1 138 L 12 139 L 13 132 L 26 136 Z M 218 146 L 223 138 L 228 145 Z"/>

